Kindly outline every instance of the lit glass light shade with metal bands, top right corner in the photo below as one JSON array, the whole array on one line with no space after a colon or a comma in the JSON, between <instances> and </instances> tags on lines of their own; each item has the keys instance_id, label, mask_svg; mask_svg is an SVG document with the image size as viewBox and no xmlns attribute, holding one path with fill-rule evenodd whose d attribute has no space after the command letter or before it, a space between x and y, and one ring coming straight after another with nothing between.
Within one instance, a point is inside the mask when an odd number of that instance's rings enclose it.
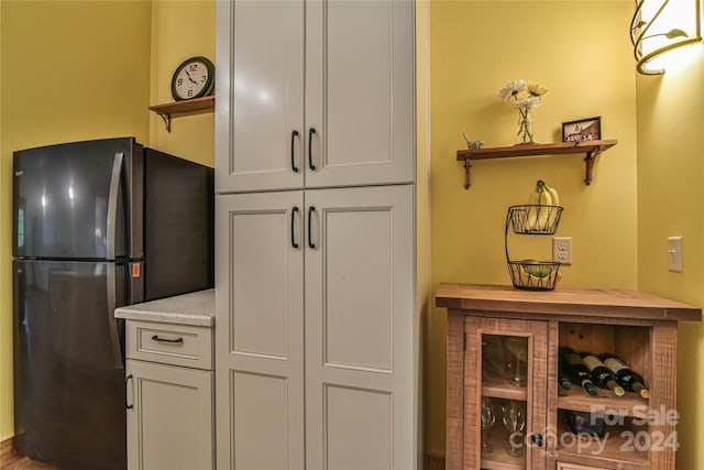
<instances>
[{"instance_id":1,"label":"lit glass light shade with metal bands, top right corner","mask_svg":"<svg viewBox=\"0 0 704 470\"><path fill-rule=\"evenodd\" d=\"M663 74L675 51L702 42L701 1L636 0L630 40L639 73Z\"/></svg>"}]
</instances>

